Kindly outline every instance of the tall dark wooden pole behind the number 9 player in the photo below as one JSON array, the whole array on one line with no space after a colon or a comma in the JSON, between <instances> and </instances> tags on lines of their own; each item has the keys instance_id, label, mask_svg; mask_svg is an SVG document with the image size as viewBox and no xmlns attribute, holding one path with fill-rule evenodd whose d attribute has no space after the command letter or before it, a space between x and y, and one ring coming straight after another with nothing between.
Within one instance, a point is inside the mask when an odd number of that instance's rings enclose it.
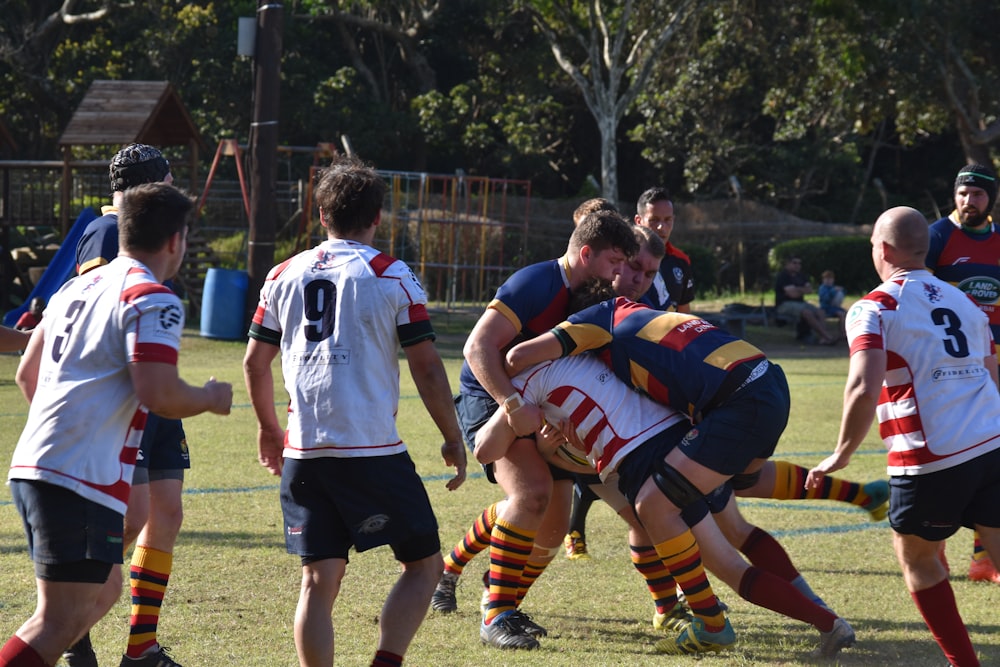
<instances>
[{"instance_id":1,"label":"tall dark wooden pole behind the number 9 player","mask_svg":"<svg viewBox=\"0 0 1000 667\"><path fill-rule=\"evenodd\" d=\"M250 236L247 243L246 313L249 321L267 272L274 264L277 228L278 93L281 85L280 2L258 0L254 56L254 107L250 127Z\"/></svg>"}]
</instances>

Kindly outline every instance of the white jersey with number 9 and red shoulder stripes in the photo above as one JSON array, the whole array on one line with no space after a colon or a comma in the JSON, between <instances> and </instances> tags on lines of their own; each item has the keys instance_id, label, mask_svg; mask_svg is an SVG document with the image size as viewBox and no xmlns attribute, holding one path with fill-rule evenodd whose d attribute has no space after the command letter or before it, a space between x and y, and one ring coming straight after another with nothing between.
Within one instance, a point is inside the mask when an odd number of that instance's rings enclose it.
<instances>
[{"instance_id":1,"label":"white jersey with number 9 and red shoulder stripes","mask_svg":"<svg viewBox=\"0 0 1000 667\"><path fill-rule=\"evenodd\" d=\"M279 345L289 395L284 456L386 456L396 431L399 349L433 340L427 297L403 262L328 240L271 269L250 336Z\"/></svg>"}]
</instances>

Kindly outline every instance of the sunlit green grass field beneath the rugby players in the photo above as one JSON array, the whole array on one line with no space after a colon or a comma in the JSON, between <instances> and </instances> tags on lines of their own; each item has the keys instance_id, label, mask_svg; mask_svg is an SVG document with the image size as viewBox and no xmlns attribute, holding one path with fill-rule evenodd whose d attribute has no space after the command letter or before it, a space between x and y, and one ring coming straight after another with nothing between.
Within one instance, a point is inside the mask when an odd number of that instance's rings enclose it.
<instances>
[{"instance_id":1,"label":"sunlit green grass field beneath the rugby players","mask_svg":"<svg viewBox=\"0 0 1000 667\"><path fill-rule=\"evenodd\" d=\"M462 335L469 318L439 314L439 347L457 386ZM792 414L778 457L810 466L833 446L840 419L847 352L793 344L787 329L750 327L748 338L780 363L792 390ZM190 331L184 339L181 372L193 383L209 375L232 381L232 415L186 420L193 467L185 484L185 522L174 573L164 603L161 641L191 666L296 665L292 617L298 595L298 560L284 551L278 480L256 461L256 427L242 383L242 343L211 341ZM27 406L13 382L16 356L0 356L0 459L8 460L24 424ZM444 488L449 472L439 458L439 439L402 369L400 431L426 480L441 525L445 549L461 538L472 519L500 497L470 465L459 490ZM843 476L868 481L884 475L881 443L870 434ZM854 626L858 643L840 665L940 667L945 659L930 637L903 585L892 554L891 531L866 514L830 502L741 501L747 518L778 537L811 583ZM653 652L652 604L629 561L624 524L603 505L588 519L593 559L570 562L559 556L532 588L525 609L550 636L532 652L502 652L480 644L480 556L458 589L459 611L431 613L406 664L555 667L571 665L687 665L694 658ZM1000 664L1000 587L965 577L971 533L948 544L952 585L983 665ZM387 549L352 556L334 610L337 664L369 664L377 618L398 566ZM721 583L738 635L736 648L703 658L714 665L816 664L809 652L817 633L741 600ZM20 520L7 487L0 488L0 642L34 609L34 580ZM127 635L128 603L118 605L94 629L102 665L118 663Z\"/></svg>"}]
</instances>

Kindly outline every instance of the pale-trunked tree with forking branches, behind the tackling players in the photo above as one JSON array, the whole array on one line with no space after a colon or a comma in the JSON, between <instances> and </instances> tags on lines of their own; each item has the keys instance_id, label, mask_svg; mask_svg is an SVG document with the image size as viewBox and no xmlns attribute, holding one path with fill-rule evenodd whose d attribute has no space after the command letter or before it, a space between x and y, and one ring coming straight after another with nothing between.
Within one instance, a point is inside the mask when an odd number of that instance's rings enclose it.
<instances>
[{"instance_id":1,"label":"pale-trunked tree with forking branches, behind the tackling players","mask_svg":"<svg viewBox=\"0 0 1000 667\"><path fill-rule=\"evenodd\" d=\"M527 0L535 25L556 62L583 94L601 136L601 189L618 201L618 128L643 90L663 47L701 2L681 0L670 12L660 3L640 21L633 1L605 11L602 0ZM657 26L644 27L644 26Z\"/></svg>"}]
</instances>

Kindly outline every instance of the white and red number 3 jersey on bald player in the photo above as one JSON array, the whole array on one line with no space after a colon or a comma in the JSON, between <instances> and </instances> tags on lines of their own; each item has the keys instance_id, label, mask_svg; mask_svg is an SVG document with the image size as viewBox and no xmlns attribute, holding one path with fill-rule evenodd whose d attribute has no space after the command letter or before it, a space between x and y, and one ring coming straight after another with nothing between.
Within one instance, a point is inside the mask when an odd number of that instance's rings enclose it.
<instances>
[{"instance_id":1,"label":"white and red number 3 jersey on bald player","mask_svg":"<svg viewBox=\"0 0 1000 667\"><path fill-rule=\"evenodd\" d=\"M983 366L986 315L928 271L882 283L847 316L851 354L886 352L876 415L890 475L956 466L1000 447L1000 393Z\"/></svg>"}]
</instances>

